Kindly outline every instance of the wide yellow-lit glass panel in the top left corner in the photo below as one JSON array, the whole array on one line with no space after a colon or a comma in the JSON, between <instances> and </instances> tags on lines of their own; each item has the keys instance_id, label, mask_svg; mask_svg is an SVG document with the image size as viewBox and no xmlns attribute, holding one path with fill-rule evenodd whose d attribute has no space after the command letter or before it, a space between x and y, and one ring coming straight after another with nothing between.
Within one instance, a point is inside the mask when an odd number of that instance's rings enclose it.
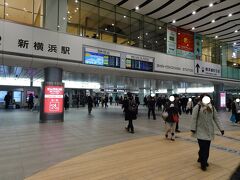
<instances>
[{"instance_id":1,"label":"wide yellow-lit glass panel in the top left corner","mask_svg":"<svg viewBox=\"0 0 240 180\"><path fill-rule=\"evenodd\" d=\"M33 0L5 0L5 19L22 24L33 24Z\"/></svg>"}]
</instances>

